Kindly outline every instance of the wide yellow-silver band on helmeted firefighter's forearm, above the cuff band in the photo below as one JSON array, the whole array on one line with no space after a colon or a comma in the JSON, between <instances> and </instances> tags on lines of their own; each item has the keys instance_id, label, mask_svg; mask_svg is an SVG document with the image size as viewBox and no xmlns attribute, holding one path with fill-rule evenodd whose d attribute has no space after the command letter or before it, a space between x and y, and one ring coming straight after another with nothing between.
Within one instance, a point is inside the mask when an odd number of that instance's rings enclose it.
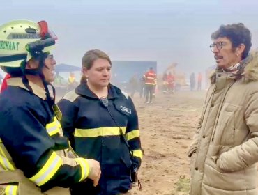
<instances>
[{"instance_id":1,"label":"wide yellow-silver band on helmeted firefighter's forearm, above the cuff band","mask_svg":"<svg viewBox=\"0 0 258 195\"><path fill-rule=\"evenodd\" d=\"M35 182L38 186L44 185L48 180L52 178L52 176L54 176L54 174L62 164L63 163L61 157L53 152L43 168L40 169L40 171L38 171L35 176L29 178L29 180Z\"/></svg>"}]
</instances>

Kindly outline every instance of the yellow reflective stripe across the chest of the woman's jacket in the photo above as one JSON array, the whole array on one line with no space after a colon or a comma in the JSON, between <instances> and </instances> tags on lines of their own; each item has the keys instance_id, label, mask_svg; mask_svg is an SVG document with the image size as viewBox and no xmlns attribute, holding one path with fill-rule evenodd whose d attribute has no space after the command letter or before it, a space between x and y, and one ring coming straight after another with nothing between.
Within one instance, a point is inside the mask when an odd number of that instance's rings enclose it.
<instances>
[{"instance_id":1,"label":"yellow reflective stripe across the chest of the woman's jacket","mask_svg":"<svg viewBox=\"0 0 258 195\"><path fill-rule=\"evenodd\" d=\"M123 134L126 133L126 127L121 127ZM99 137L120 135L119 127L99 127L93 129L75 129L75 137Z\"/></svg>"}]
</instances>

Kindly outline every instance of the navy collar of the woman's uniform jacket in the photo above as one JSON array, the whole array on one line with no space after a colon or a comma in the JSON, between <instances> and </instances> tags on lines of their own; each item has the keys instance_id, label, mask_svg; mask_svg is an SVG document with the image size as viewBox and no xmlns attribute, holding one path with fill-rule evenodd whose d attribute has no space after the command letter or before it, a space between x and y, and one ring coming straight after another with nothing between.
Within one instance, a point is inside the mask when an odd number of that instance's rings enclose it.
<instances>
[{"instance_id":1,"label":"navy collar of the woman's uniform jacket","mask_svg":"<svg viewBox=\"0 0 258 195\"><path fill-rule=\"evenodd\" d=\"M121 90L119 88L117 88L116 86L113 86L112 84L109 84L107 88L108 88L107 98L112 99L112 98L119 97L119 94L121 93ZM99 99L98 96L95 93L93 93L93 91L91 91L85 83L79 84L79 86L75 88L75 93L77 93L78 95L86 96L88 98Z\"/></svg>"}]
</instances>

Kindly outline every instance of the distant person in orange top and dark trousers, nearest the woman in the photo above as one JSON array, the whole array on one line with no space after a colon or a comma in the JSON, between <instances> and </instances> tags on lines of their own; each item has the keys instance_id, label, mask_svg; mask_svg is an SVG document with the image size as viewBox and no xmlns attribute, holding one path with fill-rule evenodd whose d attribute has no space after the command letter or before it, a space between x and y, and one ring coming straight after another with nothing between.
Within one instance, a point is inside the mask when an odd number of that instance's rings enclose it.
<instances>
[{"instance_id":1,"label":"distant person in orange top and dark trousers, nearest the woman","mask_svg":"<svg viewBox=\"0 0 258 195\"><path fill-rule=\"evenodd\" d=\"M156 73L151 67L148 72L144 74L145 77L145 89L146 89L146 99L145 103L152 103L153 98L153 88L155 87ZM149 98L150 97L150 98Z\"/></svg>"}]
</instances>

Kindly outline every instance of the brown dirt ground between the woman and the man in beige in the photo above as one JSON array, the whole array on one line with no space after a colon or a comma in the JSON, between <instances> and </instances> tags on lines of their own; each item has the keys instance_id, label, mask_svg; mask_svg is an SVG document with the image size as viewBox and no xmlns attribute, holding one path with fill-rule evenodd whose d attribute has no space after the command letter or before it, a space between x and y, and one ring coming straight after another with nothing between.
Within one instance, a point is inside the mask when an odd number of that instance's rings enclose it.
<instances>
[{"instance_id":1,"label":"brown dirt ground between the woman and the man in beige","mask_svg":"<svg viewBox=\"0 0 258 195\"><path fill-rule=\"evenodd\" d=\"M142 189L135 186L132 194L189 194L187 151L205 93L157 94L153 104L144 104L144 99L135 95L144 159L139 170Z\"/></svg>"}]
</instances>

